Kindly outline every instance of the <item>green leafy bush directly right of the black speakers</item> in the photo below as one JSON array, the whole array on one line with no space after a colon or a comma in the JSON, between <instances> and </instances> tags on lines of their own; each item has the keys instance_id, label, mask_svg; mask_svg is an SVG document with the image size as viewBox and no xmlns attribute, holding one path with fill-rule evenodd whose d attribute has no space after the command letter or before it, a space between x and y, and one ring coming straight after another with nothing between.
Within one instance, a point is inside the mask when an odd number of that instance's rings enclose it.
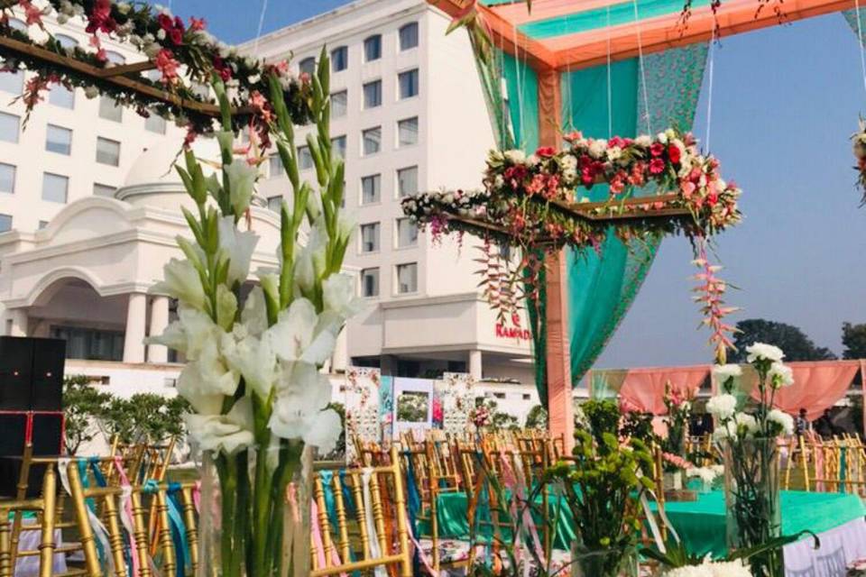
<instances>
[{"instance_id":1,"label":"green leafy bush directly right of the black speakers","mask_svg":"<svg viewBox=\"0 0 866 577\"><path fill-rule=\"evenodd\" d=\"M78 453L82 444L96 437L98 422L110 402L111 395L90 385L84 375L70 375L63 379L64 442L69 454Z\"/></svg>"}]
</instances>

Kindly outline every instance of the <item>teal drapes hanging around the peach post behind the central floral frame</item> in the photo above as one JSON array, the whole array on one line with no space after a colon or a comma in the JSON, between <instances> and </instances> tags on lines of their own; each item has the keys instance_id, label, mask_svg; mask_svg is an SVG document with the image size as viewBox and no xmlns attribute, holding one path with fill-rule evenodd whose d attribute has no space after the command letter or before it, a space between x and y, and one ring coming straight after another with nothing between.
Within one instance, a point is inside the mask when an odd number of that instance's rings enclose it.
<instances>
[{"instance_id":1,"label":"teal drapes hanging around the peach post behind the central floral frame","mask_svg":"<svg viewBox=\"0 0 866 577\"><path fill-rule=\"evenodd\" d=\"M538 78L524 62L508 54L500 53L498 61L508 90L514 141L523 150L534 151L539 142ZM561 75L563 130L580 130L594 138L607 138L612 133L634 136L647 132L648 116L653 133L671 125L687 130L694 119L705 61L706 45L696 44L645 57L642 74L638 59L613 62L610 69L603 65L567 71ZM632 194L652 192L641 189ZM607 194L603 186L578 191L578 197L593 200ZM626 245L609 234L597 250L568 252L568 336L575 382L592 366L628 311L658 247L658 239ZM543 291L539 301L528 302L527 308L535 345L536 385L546 405Z\"/></svg>"}]
</instances>

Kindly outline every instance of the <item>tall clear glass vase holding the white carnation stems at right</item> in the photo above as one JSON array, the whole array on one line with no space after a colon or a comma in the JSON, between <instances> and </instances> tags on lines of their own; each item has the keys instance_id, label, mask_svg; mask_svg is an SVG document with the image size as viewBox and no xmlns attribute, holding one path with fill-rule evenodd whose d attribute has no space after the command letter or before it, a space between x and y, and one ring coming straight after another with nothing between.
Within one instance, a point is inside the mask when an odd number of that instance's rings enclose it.
<instances>
[{"instance_id":1,"label":"tall clear glass vase holding the white carnation stems at right","mask_svg":"<svg viewBox=\"0 0 866 577\"><path fill-rule=\"evenodd\" d=\"M781 535L778 445L776 438L737 438L724 450L724 500L728 550L763 545ZM754 577L783 577L777 548L753 555Z\"/></svg>"}]
</instances>

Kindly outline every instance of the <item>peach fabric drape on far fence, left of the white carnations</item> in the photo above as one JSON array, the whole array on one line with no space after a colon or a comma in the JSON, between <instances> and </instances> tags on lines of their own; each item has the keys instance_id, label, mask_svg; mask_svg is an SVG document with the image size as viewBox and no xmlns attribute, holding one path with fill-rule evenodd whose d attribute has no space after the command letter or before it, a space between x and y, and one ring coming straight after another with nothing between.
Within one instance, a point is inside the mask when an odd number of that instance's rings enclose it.
<instances>
[{"instance_id":1,"label":"peach fabric drape on far fence, left of the white carnations","mask_svg":"<svg viewBox=\"0 0 866 577\"><path fill-rule=\"evenodd\" d=\"M708 365L695 367L661 367L631 369L620 388L620 402L633 410L653 415L665 415L665 386L684 397L694 397L701 383L710 374Z\"/></svg>"}]
</instances>

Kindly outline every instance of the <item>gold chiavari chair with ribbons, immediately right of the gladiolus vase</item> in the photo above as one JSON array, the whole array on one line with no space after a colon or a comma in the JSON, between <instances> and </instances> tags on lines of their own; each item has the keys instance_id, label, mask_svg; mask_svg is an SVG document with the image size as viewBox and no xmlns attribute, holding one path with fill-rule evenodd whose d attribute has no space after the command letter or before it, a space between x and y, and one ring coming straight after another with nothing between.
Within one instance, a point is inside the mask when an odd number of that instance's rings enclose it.
<instances>
[{"instance_id":1,"label":"gold chiavari chair with ribbons, immediately right of the gladiolus vase","mask_svg":"<svg viewBox=\"0 0 866 577\"><path fill-rule=\"evenodd\" d=\"M405 488L395 445L388 452L387 461L386 465L345 469L342 474L332 476L336 527L327 515L327 488L321 477L316 477L313 497L318 517L314 522L318 522L321 544L316 543L314 531L311 577L363 572L374 567L394 567L400 577L412 574ZM343 498L342 482L351 491L355 518ZM388 512L392 518L385 518ZM353 547L353 543L360 543L360 549ZM379 555L374 554L376 549Z\"/></svg>"}]
</instances>

